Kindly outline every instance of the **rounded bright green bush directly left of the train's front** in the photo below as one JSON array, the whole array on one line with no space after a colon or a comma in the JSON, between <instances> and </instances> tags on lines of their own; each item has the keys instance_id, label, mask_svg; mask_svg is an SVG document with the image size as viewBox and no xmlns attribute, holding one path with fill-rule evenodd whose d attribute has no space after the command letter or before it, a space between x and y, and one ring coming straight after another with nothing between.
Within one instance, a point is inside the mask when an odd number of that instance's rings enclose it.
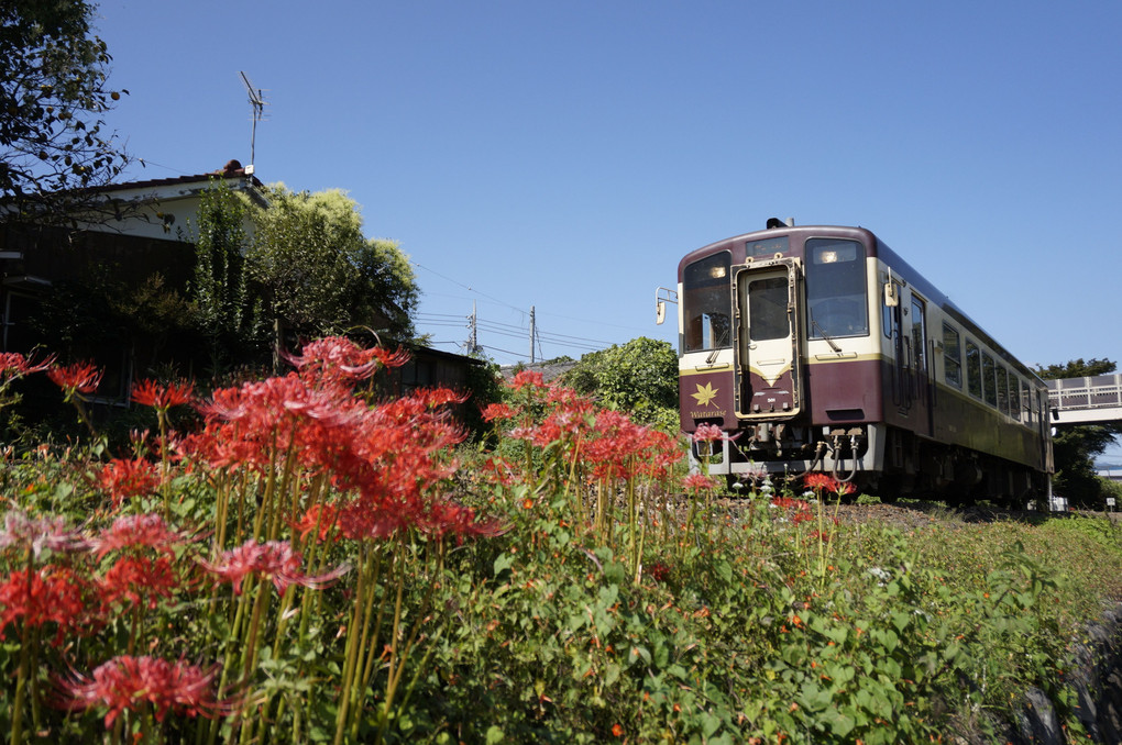
<instances>
[{"instance_id":1,"label":"rounded bright green bush directly left of the train's front","mask_svg":"<svg viewBox=\"0 0 1122 745\"><path fill-rule=\"evenodd\" d=\"M590 352L562 381L635 421L678 428L678 355L668 342L641 336Z\"/></svg>"}]
</instances>

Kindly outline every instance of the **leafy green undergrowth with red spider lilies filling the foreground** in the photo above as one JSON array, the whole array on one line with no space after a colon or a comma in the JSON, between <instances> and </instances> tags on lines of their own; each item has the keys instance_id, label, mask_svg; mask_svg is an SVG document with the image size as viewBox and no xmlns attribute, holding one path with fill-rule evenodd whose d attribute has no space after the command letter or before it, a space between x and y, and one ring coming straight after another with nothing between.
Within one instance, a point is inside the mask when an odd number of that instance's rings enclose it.
<instances>
[{"instance_id":1,"label":"leafy green undergrowth with red spider lilies filling the foreground","mask_svg":"<svg viewBox=\"0 0 1122 745\"><path fill-rule=\"evenodd\" d=\"M283 407L250 394L282 383ZM110 742L1004 742L1029 686L1070 738L1083 734L1067 644L1122 590L1122 543L1106 520L942 514L903 532L838 523L820 501L763 490L690 501L666 450L620 457L651 430L532 374L512 384L524 406L496 421L512 450L537 457L496 464L502 448L482 446L453 459L438 439L414 472L424 435L448 434L427 419L431 400L334 408L338 383L228 392L237 421L196 432L182 462L154 458L159 478L128 497L99 486L102 446L6 456L9 509L49 519L34 530L4 522L0 586L19 589L13 572L33 559L73 571L91 583L99 623L52 617L28 633L4 616L0 729L15 742L88 741L103 730L103 705L40 704L65 692L67 676L88 679L135 651L213 663L211 687L192 692L220 691L229 710L154 718L130 699ZM425 413L403 425L410 411ZM259 421L276 429L252 429ZM166 455L181 438L159 440ZM376 460L355 463L370 449ZM325 459L309 465L313 454ZM356 502L368 494L339 476L364 474L416 501ZM417 481L429 488L413 491ZM435 509L411 515L429 497ZM72 532L104 537L120 516L153 514L174 529L173 549L64 552ZM478 534L433 530L447 514L467 522L445 528ZM237 589L215 577L218 557L232 571L230 549L266 539L291 547L291 560L240 565ZM157 556L176 580L166 595L105 599L118 564ZM149 593L146 577L128 589ZM52 644L59 630L71 636Z\"/></svg>"}]
</instances>

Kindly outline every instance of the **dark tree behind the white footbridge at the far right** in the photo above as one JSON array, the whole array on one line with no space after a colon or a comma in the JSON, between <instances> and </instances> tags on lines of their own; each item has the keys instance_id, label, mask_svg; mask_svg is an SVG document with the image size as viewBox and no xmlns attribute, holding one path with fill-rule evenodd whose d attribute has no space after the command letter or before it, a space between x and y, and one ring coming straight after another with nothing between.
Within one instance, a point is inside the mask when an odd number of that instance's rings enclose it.
<instances>
[{"instance_id":1,"label":"dark tree behind the white footbridge at the far right","mask_svg":"<svg viewBox=\"0 0 1122 745\"><path fill-rule=\"evenodd\" d=\"M1116 365L1110 360L1073 360L1064 365L1038 366L1045 380L1105 375ZM1098 505L1102 502L1102 482L1095 474L1095 458L1106 451L1114 437L1122 435L1122 425L1068 425L1057 427L1052 438L1056 475L1052 487L1073 504Z\"/></svg>"}]
</instances>

